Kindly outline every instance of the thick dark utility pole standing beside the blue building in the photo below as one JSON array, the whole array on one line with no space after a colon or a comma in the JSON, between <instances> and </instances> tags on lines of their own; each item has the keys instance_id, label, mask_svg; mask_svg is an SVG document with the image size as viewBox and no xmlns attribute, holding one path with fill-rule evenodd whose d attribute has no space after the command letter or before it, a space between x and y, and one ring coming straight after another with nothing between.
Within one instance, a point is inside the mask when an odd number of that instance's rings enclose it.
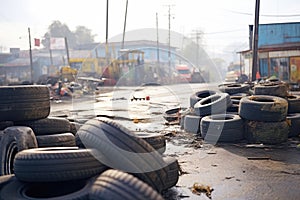
<instances>
[{"instance_id":1,"label":"thick dark utility pole standing beside the blue building","mask_svg":"<svg viewBox=\"0 0 300 200\"><path fill-rule=\"evenodd\" d=\"M256 80L256 73L258 69L258 25L259 25L259 5L260 0L255 3L255 24L254 24L254 43L253 43L253 60L252 60L252 81Z\"/></svg>"}]
</instances>

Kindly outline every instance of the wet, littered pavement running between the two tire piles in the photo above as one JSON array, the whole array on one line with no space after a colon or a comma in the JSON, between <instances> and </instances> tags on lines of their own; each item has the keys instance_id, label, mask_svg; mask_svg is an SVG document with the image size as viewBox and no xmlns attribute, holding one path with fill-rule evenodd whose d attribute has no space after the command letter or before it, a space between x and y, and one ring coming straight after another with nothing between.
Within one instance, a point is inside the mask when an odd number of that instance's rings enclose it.
<instances>
[{"instance_id":1,"label":"wet, littered pavement running between the two tire piles","mask_svg":"<svg viewBox=\"0 0 300 200\"><path fill-rule=\"evenodd\" d=\"M189 107L190 95L203 88L217 87L181 84L100 88L99 95L52 102L50 115L67 116L79 123L107 116L134 132L164 134L164 155L175 157L181 166L179 181L164 194L166 199L209 199L204 192L192 192L195 183L210 186L211 199L299 199L299 137L272 146L245 141L211 145L184 132L178 124L166 124L166 109ZM150 100L142 99L147 96Z\"/></svg>"}]
</instances>

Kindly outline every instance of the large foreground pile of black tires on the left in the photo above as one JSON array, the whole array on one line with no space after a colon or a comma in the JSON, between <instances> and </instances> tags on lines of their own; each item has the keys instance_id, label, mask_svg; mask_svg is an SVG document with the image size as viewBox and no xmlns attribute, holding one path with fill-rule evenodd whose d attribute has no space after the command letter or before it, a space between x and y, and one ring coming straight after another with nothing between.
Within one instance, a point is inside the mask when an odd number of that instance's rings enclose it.
<instances>
[{"instance_id":1,"label":"large foreground pile of black tires on the left","mask_svg":"<svg viewBox=\"0 0 300 200\"><path fill-rule=\"evenodd\" d=\"M50 117L39 85L0 87L0 199L163 199L179 177L161 135Z\"/></svg>"}]
</instances>

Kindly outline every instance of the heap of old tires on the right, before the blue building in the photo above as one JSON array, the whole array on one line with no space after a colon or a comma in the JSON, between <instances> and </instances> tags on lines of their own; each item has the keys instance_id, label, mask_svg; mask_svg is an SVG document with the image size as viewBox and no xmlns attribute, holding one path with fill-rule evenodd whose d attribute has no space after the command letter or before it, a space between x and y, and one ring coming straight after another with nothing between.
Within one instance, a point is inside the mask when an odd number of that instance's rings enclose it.
<instances>
[{"instance_id":1,"label":"heap of old tires on the right, before the blue building","mask_svg":"<svg viewBox=\"0 0 300 200\"><path fill-rule=\"evenodd\" d=\"M300 96L290 94L288 88L273 80L197 91L190 96L189 112L180 115L181 127L211 143L284 143L300 134Z\"/></svg>"}]
</instances>

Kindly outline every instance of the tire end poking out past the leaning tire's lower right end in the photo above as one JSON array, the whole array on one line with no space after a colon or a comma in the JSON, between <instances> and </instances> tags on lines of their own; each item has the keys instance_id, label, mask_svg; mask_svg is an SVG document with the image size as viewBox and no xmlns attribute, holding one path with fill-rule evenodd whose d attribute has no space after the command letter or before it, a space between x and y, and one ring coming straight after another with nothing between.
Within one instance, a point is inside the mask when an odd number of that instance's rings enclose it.
<instances>
[{"instance_id":1,"label":"tire end poking out past the leaning tire's lower right end","mask_svg":"<svg viewBox=\"0 0 300 200\"><path fill-rule=\"evenodd\" d=\"M170 189L171 187L176 186L179 180L180 167L178 160L173 157L165 157L164 161L167 163L167 180L164 184L164 190Z\"/></svg>"}]
</instances>

